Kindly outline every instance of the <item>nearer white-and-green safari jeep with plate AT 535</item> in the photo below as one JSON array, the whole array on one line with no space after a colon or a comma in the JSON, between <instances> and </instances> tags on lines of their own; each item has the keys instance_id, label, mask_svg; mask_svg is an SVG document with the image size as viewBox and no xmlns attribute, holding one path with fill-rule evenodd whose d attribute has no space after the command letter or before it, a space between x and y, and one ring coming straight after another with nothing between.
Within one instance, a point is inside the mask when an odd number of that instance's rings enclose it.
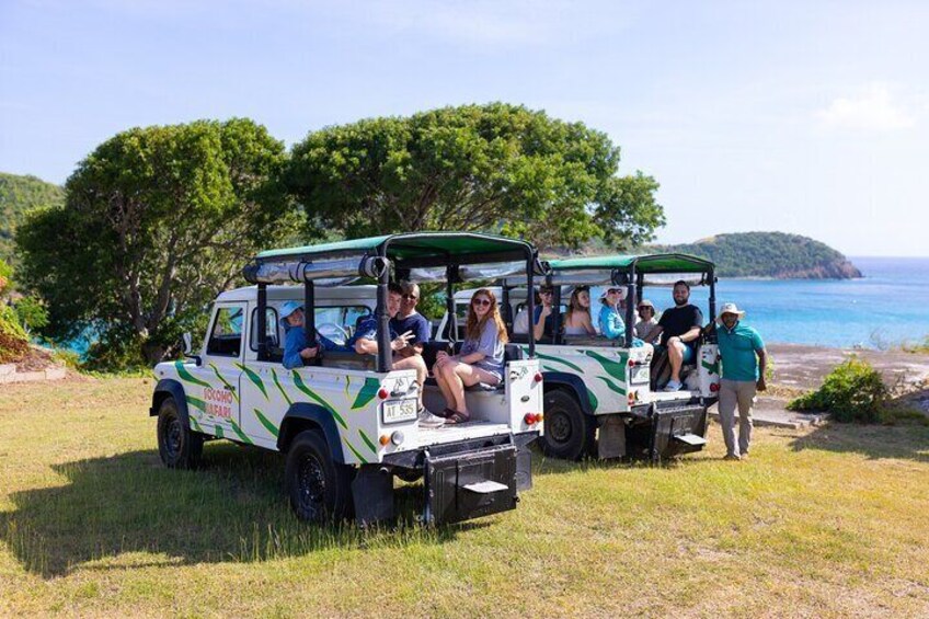
<instances>
[{"instance_id":1,"label":"nearer white-and-green safari jeep with plate AT 535","mask_svg":"<svg viewBox=\"0 0 929 619\"><path fill-rule=\"evenodd\" d=\"M542 428L534 342L508 346L502 385L468 392L472 417L457 425L421 426L415 370L391 367L391 280L445 280L451 299L456 284L486 273L523 274L531 289L546 265L524 241L455 232L259 254L243 270L254 285L214 302L198 354L154 368L150 414L158 416L161 459L195 467L204 442L216 438L282 451L291 506L313 521L353 512L359 523L392 519L394 475L423 478L427 523L515 508L517 492L531 488L528 445ZM294 300L307 308L307 333L336 341L374 313L378 354L325 352L314 365L285 369L278 309ZM448 345L428 342L424 357ZM428 382L425 389L427 400L438 391Z\"/></svg>"}]
</instances>

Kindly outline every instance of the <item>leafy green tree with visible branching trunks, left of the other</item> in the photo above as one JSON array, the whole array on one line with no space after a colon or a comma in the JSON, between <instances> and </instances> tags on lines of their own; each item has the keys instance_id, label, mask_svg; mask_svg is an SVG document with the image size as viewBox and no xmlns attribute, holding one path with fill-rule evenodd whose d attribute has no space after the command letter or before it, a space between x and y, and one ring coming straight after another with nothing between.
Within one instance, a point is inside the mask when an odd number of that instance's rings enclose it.
<instances>
[{"instance_id":1,"label":"leafy green tree with visible branching trunks, left of the other","mask_svg":"<svg viewBox=\"0 0 929 619\"><path fill-rule=\"evenodd\" d=\"M90 328L110 365L175 352L243 262L295 225L285 162L284 145L249 119L135 128L100 145L68 179L66 204L16 234L21 279L48 302L47 334Z\"/></svg>"}]
</instances>

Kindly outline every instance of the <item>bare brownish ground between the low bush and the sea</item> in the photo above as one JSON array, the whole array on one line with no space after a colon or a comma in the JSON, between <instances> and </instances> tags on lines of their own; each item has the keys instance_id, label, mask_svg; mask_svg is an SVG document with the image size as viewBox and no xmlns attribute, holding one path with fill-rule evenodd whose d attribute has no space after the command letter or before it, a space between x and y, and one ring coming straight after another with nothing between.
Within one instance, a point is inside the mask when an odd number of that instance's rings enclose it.
<instances>
[{"instance_id":1,"label":"bare brownish ground between the low bush and the sea","mask_svg":"<svg viewBox=\"0 0 929 619\"><path fill-rule=\"evenodd\" d=\"M823 378L849 355L859 355L884 375L884 381L907 392L913 405L929 413L929 355L914 355L903 351L855 351L825 348L800 344L770 344L768 353L775 363L772 383L777 396L759 394L754 419L757 425L796 427L818 423L822 415L794 413L784 409L790 390L816 389ZM778 387L785 389L778 389ZM715 406L710 409L715 416Z\"/></svg>"}]
</instances>

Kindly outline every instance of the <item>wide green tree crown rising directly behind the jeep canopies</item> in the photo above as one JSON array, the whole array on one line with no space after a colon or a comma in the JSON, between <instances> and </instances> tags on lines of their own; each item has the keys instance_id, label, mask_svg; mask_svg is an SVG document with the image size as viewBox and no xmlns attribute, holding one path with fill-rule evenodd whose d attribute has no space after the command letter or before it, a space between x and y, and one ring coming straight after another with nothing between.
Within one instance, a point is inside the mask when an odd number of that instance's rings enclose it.
<instances>
[{"instance_id":1,"label":"wide green tree crown rising directly behind the jeep canopies","mask_svg":"<svg viewBox=\"0 0 929 619\"><path fill-rule=\"evenodd\" d=\"M309 232L493 230L543 248L647 242L664 223L650 176L617 176L619 148L582 123L492 103L310 133L288 185Z\"/></svg>"}]
</instances>

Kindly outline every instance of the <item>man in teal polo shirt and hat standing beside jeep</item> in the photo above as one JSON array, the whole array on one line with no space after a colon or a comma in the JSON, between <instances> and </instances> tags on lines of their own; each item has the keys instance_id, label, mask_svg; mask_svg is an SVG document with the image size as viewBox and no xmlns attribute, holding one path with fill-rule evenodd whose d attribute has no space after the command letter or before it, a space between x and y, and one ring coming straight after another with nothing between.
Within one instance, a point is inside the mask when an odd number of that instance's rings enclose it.
<instances>
[{"instance_id":1,"label":"man in teal polo shirt and hat standing beside jeep","mask_svg":"<svg viewBox=\"0 0 929 619\"><path fill-rule=\"evenodd\" d=\"M768 354L758 332L742 324L745 312L735 303L725 303L720 311L716 339L723 362L720 381L720 423L726 444L726 460L748 456L752 439L752 404L756 391L767 389L765 367ZM738 406L738 445L735 443L735 409Z\"/></svg>"}]
</instances>

